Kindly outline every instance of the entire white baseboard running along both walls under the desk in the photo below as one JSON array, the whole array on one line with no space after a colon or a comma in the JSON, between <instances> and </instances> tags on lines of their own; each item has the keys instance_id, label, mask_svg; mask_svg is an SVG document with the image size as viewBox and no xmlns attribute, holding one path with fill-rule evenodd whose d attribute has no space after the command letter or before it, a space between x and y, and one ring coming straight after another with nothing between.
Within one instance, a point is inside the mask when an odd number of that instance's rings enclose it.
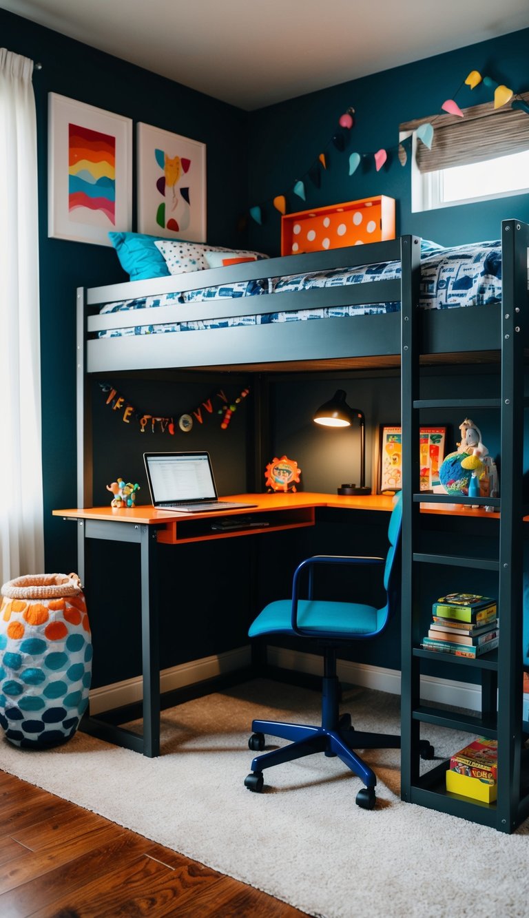
<instances>
[{"instance_id":1,"label":"entire white baseboard running along both walls under the desk","mask_svg":"<svg viewBox=\"0 0 529 918\"><path fill-rule=\"evenodd\" d=\"M298 650L286 650L283 647L273 646L268 646L266 652L270 666L292 669L295 672L308 673L312 676L322 674L322 658L316 654L306 654ZM251 649L249 645L246 645L227 651L225 654L204 656L200 660L192 660L180 666L171 666L160 674L160 690L165 692L182 689L184 686L194 685L204 679L243 669L250 666L251 661ZM338 676L343 682L351 685L400 695L400 670L398 669L338 660ZM96 716L103 711L112 711L123 705L141 701L141 689L141 677L125 679L109 686L92 689L90 713ZM481 710L481 689L478 685L467 682L422 676L421 698L423 701L438 701L471 711Z\"/></svg>"}]
</instances>

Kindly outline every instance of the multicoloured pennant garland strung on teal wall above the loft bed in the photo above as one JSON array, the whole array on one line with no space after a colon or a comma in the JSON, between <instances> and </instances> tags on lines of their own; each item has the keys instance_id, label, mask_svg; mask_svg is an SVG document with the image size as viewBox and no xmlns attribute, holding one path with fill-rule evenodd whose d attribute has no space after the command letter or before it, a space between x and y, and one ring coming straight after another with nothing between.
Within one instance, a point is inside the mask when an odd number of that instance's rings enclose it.
<instances>
[{"instance_id":1,"label":"multicoloured pennant garland strung on teal wall above the loft bed","mask_svg":"<svg viewBox=\"0 0 529 918\"><path fill-rule=\"evenodd\" d=\"M486 86L488 89L490 89L493 92L494 108L500 108L501 106L505 106L509 102L511 102L512 108L517 108L520 111L524 111L529 115L529 104L525 102L523 98L513 93L512 89L509 89L508 86L505 86L504 84L496 83L496 81L493 80L490 76L481 76L481 73L479 73L477 70L472 70L470 71L470 73L468 73L467 78L464 80L462 84L460 84L454 96L458 95L459 91L462 89L464 85L469 86L470 89L472 90L472 89L475 89L476 86L478 86L480 83L482 83L484 86ZM461 111L461 108L457 105L455 101L455 97L446 99L443 105L441 106L441 109L443 112L447 112L449 115L456 115L458 118L465 117L464 113ZM348 108L347 111L345 111L343 115L340 116L340 118L338 119L338 124L340 128L342 128L345 131L345 133L343 132L333 133L331 140L329 140L325 150L321 151L318 154L315 162L312 163L308 172L305 173L302 178L298 178L295 181L294 185L292 186L292 192L294 193L294 195L300 197L301 200L305 201L307 199L306 198L306 186L305 186L305 182L303 181L303 178L305 177L305 175L307 175L310 178L310 181L312 182L313 185L315 185L315 187L317 188L321 187L321 169L327 170L329 169L329 166L330 166L330 161L327 158L326 150L330 147L331 143L337 151L343 152L345 150L347 143L348 143L347 133L355 125L355 118L353 117L354 115L355 115L355 109ZM421 140L421 142L426 147L428 147L428 150L432 149L433 125L436 123L438 118L443 118L443 116L439 115L436 118L433 118L432 121L427 121L427 122L422 123L422 125L420 125L419 128L417 128L415 131L415 134L418 140ZM388 148L388 149L381 148L380 150L377 150L376 152L354 151L350 153L349 155L349 161L348 161L349 162L349 175L351 176L355 174L356 170L358 169L358 166L360 165L362 161L366 161L368 165L374 164L377 172L379 172L380 169L384 166L386 162L389 162L389 163L391 162L391 155L393 153L397 155L400 165L405 166L406 163L408 162L407 148L410 145L411 145L411 137L406 138L405 140L401 140L400 143L397 146L395 146L395 148ZM267 202L264 202L264 203L267 203ZM262 225L263 223L264 203L263 205L256 205L254 207L250 207L248 211L248 213L253 218L253 220L259 225ZM279 211L279 213L281 214L287 213L287 197L284 194L274 196L273 204L274 204L274 207L276 207L276 210Z\"/></svg>"}]
</instances>

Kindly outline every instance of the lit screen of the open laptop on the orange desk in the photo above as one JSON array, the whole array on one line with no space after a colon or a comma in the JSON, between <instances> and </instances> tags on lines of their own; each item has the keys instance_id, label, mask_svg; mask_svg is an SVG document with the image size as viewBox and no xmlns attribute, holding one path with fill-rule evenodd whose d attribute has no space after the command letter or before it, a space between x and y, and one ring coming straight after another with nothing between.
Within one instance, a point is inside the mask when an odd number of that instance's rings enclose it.
<instances>
[{"instance_id":1,"label":"lit screen of the open laptop on the orange desk","mask_svg":"<svg viewBox=\"0 0 529 918\"><path fill-rule=\"evenodd\" d=\"M152 504L217 498L208 453L145 453Z\"/></svg>"}]
</instances>

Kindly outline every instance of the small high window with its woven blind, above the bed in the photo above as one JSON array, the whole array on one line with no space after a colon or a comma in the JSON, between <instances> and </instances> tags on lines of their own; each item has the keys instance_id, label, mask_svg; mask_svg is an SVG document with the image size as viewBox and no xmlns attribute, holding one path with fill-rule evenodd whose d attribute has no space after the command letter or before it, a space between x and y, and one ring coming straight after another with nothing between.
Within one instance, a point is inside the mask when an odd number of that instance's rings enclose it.
<instances>
[{"instance_id":1,"label":"small high window with its woven blind, above the bed","mask_svg":"<svg viewBox=\"0 0 529 918\"><path fill-rule=\"evenodd\" d=\"M525 101L529 94L519 96ZM529 190L529 116L491 103L454 115L420 118L400 125L411 140L411 210L454 207ZM415 130L433 123L432 149Z\"/></svg>"}]
</instances>

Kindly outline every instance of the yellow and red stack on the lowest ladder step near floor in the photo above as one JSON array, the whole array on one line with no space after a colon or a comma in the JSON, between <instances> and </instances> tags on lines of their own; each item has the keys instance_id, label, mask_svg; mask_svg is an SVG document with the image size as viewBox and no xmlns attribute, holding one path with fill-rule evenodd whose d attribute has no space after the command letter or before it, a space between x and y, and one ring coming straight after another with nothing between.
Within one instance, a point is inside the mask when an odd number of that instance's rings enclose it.
<instances>
[{"instance_id":1,"label":"yellow and red stack on the lowest ladder step near floor","mask_svg":"<svg viewBox=\"0 0 529 918\"><path fill-rule=\"evenodd\" d=\"M498 740L480 736L450 758L446 790L492 803L498 793Z\"/></svg>"}]
</instances>

